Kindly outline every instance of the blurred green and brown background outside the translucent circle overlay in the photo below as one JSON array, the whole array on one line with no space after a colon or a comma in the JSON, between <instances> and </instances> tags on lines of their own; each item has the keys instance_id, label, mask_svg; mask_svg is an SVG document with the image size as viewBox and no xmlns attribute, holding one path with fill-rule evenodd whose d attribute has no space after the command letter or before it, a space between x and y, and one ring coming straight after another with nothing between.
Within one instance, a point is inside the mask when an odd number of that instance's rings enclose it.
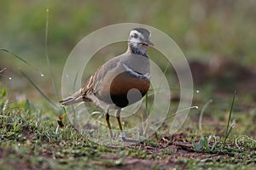
<instances>
[{"instance_id":1,"label":"blurred green and brown background outside the translucent circle overlay","mask_svg":"<svg viewBox=\"0 0 256 170\"><path fill-rule=\"evenodd\" d=\"M255 0L2 0L0 48L26 59L45 75L38 76L19 59L1 51L0 69L7 69L0 81L15 90L13 95L32 88L20 75L19 68L46 94L55 95L45 59L47 8L49 60L60 90L62 69L75 45L92 31L123 22L153 26L172 37L191 64L195 88L209 85L211 89L226 86L224 90L234 90L237 87L233 85L243 81L241 87L251 84L253 89L256 84L249 82L255 78ZM114 50L106 53L120 54L125 46ZM28 92L28 97L39 96L36 90Z\"/></svg>"}]
</instances>

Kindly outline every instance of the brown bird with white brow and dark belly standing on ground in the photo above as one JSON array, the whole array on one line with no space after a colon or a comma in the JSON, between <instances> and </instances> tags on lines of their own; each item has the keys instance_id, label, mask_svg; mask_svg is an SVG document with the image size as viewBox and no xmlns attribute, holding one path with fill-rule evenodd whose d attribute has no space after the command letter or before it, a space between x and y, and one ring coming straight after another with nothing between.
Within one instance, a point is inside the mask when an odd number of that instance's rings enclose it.
<instances>
[{"instance_id":1,"label":"brown bird with white brow and dark belly standing on ground","mask_svg":"<svg viewBox=\"0 0 256 170\"><path fill-rule=\"evenodd\" d=\"M143 99L150 87L150 60L148 46L154 46L151 33L146 28L137 27L130 31L128 47L124 54L108 60L76 93L60 101L62 106L80 102L94 102L105 111L110 137L113 138L109 122L109 110L116 110L121 139L125 138L120 121L123 108Z\"/></svg>"}]
</instances>

